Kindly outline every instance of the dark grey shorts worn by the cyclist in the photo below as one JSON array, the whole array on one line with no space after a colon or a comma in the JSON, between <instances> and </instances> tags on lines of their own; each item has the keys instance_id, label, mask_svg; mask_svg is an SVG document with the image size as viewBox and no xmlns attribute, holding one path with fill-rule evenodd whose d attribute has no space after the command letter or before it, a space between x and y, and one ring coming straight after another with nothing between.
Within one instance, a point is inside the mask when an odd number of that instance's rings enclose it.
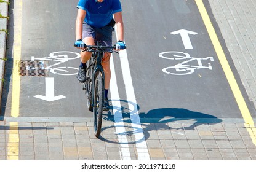
<instances>
[{"instance_id":1,"label":"dark grey shorts worn by the cyclist","mask_svg":"<svg viewBox=\"0 0 256 172\"><path fill-rule=\"evenodd\" d=\"M112 26L104 26L103 28L94 28L86 22L82 25L82 39L93 37L94 41L99 41L105 46L112 46L114 28Z\"/></svg>"}]
</instances>

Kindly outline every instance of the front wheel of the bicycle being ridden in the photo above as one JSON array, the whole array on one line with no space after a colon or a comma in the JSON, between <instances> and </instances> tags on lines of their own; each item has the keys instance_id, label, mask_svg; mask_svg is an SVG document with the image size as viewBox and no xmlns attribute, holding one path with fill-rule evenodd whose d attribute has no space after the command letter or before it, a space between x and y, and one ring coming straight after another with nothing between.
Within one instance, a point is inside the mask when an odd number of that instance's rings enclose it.
<instances>
[{"instance_id":1,"label":"front wheel of the bicycle being ridden","mask_svg":"<svg viewBox=\"0 0 256 172\"><path fill-rule=\"evenodd\" d=\"M103 112L103 78L102 73L95 75L94 86L94 135L98 138L102 130L102 112Z\"/></svg>"}]
</instances>

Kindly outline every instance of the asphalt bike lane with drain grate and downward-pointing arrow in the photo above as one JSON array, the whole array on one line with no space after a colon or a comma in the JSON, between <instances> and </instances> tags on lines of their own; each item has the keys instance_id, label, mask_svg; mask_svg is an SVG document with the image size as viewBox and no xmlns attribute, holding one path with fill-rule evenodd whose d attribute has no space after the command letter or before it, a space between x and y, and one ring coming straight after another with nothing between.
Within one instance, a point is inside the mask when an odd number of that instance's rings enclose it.
<instances>
[{"instance_id":1,"label":"asphalt bike lane with drain grate and downward-pointing arrow","mask_svg":"<svg viewBox=\"0 0 256 172\"><path fill-rule=\"evenodd\" d=\"M19 109L15 113L18 117L90 114L82 85L76 79L80 58L79 50L73 47L76 3L67 1L59 6L58 1L23 1L21 58L16 66L20 99L19 108L12 108ZM71 5L74 10L70 10Z\"/></svg>"}]
</instances>

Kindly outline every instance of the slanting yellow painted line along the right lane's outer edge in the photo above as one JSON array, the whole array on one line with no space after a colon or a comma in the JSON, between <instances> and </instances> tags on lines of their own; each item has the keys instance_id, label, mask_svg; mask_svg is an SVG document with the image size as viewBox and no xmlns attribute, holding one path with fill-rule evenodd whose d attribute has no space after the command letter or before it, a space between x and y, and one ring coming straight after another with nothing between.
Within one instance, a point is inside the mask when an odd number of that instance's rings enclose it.
<instances>
[{"instance_id":1,"label":"slanting yellow painted line along the right lane's outer edge","mask_svg":"<svg viewBox=\"0 0 256 172\"><path fill-rule=\"evenodd\" d=\"M204 21L204 25L206 26L206 29L209 33L210 39L212 40L212 44L214 45L215 52L217 53L218 60L220 60L220 64L222 65L223 71L226 75L226 79L228 79L228 83L230 84L231 90L234 94L234 98L238 103L238 107L241 111L244 122L249 123L250 127L247 127L247 131L249 132L250 138L252 138L253 143L256 145L254 120L250 115L246 101L244 101L244 97L242 96L241 90L238 87L238 83L236 82L234 74L231 71L228 60L226 60L226 55L223 52L222 45L220 45L220 41L218 40L218 36L214 30L214 26L212 26L212 22L210 21L210 17L207 14L206 7L204 6L202 0L196 0L196 4L202 16L202 20Z\"/></svg>"}]
</instances>

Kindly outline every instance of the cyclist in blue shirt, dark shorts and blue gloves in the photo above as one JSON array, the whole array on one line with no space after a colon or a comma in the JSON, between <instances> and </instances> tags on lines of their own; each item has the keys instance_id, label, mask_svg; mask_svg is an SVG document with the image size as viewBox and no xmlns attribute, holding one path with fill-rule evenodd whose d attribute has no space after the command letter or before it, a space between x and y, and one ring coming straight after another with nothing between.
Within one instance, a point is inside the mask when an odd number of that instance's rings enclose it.
<instances>
[{"instance_id":1,"label":"cyclist in blue shirt, dark shorts and blue gloves","mask_svg":"<svg viewBox=\"0 0 256 172\"><path fill-rule=\"evenodd\" d=\"M122 21L122 7L120 0L79 0L76 18L76 46L83 49L84 44L94 45L100 41L105 46L112 45L114 25L117 25L116 50L123 50L124 23ZM113 18L114 15L114 18ZM86 81L86 61L90 59L91 52L81 50L81 64L78 71L79 82ZM105 99L103 110L108 111L108 88L110 87L110 53L106 52L102 59L105 74Z\"/></svg>"}]
</instances>

